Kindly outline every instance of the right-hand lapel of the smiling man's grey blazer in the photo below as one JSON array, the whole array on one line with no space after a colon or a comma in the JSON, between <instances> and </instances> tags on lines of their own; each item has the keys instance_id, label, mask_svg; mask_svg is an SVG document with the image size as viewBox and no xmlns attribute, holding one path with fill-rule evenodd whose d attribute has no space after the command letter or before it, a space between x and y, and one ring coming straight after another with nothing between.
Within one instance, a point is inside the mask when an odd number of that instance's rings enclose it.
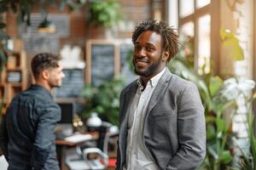
<instances>
[{"instance_id":1,"label":"right-hand lapel of the smiling man's grey blazer","mask_svg":"<svg viewBox=\"0 0 256 170\"><path fill-rule=\"evenodd\" d=\"M168 69L166 69L163 76L160 77L160 80L154 89L151 99L149 100L147 115L154 108L154 105L156 105L156 103L160 99L160 96L165 94L166 88L168 87L168 84L171 78L172 78L172 73Z\"/></svg>"}]
</instances>

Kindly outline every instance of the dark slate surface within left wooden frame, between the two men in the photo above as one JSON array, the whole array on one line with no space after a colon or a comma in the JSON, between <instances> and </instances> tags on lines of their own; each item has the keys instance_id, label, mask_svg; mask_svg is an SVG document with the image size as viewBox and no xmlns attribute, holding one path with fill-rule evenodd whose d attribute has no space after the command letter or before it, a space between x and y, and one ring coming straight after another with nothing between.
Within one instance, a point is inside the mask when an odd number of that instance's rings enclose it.
<instances>
[{"instance_id":1,"label":"dark slate surface within left wooden frame, between the two men","mask_svg":"<svg viewBox=\"0 0 256 170\"><path fill-rule=\"evenodd\" d=\"M91 45L91 83L100 86L113 78L114 45Z\"/></svg>"}]
</instances>

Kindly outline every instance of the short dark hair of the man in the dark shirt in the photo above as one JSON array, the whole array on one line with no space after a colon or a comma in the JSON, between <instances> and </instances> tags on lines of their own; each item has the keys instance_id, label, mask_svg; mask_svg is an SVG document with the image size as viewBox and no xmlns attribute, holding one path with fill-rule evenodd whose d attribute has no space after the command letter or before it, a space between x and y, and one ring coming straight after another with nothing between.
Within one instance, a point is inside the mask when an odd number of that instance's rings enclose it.
<instances>
[{"instance_id":1,"label":"short dark hair of the man in the dark shirt","mask_svg":"<svg viewBox=\"0 0 256 170\"><path fill-rule=\"evenodd\" d=\"M55 54L41 53L33 57L31 62L32 73L35 79L38 78L40 72L49 69L59 67L58 62L60 57Z\"/></svg>"}]
</instances>

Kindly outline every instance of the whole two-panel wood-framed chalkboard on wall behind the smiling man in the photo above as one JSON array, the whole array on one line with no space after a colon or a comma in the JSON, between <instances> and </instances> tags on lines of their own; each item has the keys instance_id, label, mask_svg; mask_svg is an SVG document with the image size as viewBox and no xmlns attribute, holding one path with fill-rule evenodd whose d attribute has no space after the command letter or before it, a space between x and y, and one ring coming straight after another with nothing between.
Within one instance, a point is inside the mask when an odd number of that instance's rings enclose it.
<instances>
[{"instance_id":1,"label":"whole two-panel wood-framed chalkboard on wall behind the smiling man","mask_svg":"<svg viewBox=\"0 0 256 170\"><path fill-rule=\"evenodd\" d=\"M86 42L86 83L100 86L115 76L125 77L125 84L137 78L131 69L131 40L89 40Z\"/></svg>"}]
</instances>

